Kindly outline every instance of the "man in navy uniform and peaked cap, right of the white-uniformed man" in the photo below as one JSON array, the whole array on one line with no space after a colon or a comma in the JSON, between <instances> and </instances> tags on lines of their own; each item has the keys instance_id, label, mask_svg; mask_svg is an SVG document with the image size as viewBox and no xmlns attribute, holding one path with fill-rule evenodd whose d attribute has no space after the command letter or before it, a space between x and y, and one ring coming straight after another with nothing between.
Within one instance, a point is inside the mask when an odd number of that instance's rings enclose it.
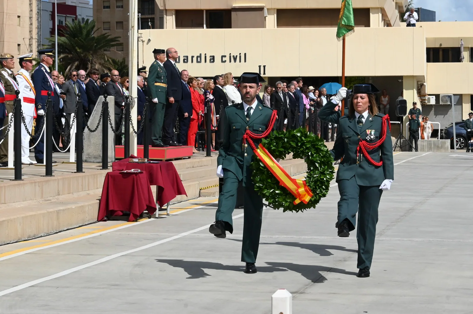
<instances>
[{"instance_id":1,"label":"man in navy uniform and peaked cap, right of the white-uniformed man","mask_svg":"<svg viewBox=\"0 0 473 314\"><path fill-rule=\"evenodd\" d=\"M54 61L54 49L38 50L38 55L40 63L31 75L36 94L35 105L37 117L35 133L41 133L42 129L40 129L40 127L42 125L44 126L44 109L48 101L48 92L51 92L51 100L54 102L54 83L49 71L49 67L53 65ZM44 163L44 136L41 136L41 139L35 146L35 160L38 163Z\"/></svg>"}]
</instances>

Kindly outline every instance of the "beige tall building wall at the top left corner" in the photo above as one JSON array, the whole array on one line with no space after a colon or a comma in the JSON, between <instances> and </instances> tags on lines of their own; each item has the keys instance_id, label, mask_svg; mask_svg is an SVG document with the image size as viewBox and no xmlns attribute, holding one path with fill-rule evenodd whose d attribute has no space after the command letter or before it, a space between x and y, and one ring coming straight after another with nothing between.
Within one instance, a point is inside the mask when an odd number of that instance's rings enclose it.
<instances>
[{"instance_id":1,"label":"beige tall building wall at the top left corner","mask_svg":"<svg viewBox=\"0 0 473 314\"><path fill-rule=\"evenodd\" d=\"M31 29L30 1L32 4ZM0 0L0 52L10 53L16 58L35 51L36 0ZM18 62L15 63L15 70L18 71L20 67Z\"/></svg>"}]
</instances>

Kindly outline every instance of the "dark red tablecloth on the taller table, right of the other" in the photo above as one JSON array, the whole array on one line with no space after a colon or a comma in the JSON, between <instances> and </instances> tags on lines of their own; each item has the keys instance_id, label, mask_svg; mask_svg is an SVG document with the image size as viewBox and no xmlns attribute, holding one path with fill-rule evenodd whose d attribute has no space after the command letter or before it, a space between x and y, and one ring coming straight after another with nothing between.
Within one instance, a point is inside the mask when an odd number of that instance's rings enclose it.
<instances>
[{"instance_id":1,"label":"dark red tablecloth on the taller table, right of the other","mask_svg":"<svg viewBox=\"0 0 473 314\"><path fill-rule=\"evenodd\" d=\"M133 156L131 156L133 158ZM149 184L158 186L157 203L163 207L167 202L172 201L177 195L186 195L181 178L170 161L159 163L138 163L129 162L129 158L112 162L112 170L140 169L148 176Z\"/></svg>"}]
</instances>

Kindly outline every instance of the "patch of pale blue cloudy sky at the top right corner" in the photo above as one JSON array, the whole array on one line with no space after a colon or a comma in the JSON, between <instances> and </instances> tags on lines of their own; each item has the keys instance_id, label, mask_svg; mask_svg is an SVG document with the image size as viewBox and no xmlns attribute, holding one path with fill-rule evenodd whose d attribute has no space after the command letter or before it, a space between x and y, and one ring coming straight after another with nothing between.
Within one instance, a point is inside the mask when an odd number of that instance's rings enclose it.
<instances>
[{"instance_id":1,"label":"patch of pale blue cloudy sky at the top right corner","mask_svg":"<svg viewBox=\"0 0 473 314\"><path fill-rule=\"evenodd\" d=\"M415 0L414 6L436 11L437 21L473 21L473 0Z\"/></svg>"}]
</instances>

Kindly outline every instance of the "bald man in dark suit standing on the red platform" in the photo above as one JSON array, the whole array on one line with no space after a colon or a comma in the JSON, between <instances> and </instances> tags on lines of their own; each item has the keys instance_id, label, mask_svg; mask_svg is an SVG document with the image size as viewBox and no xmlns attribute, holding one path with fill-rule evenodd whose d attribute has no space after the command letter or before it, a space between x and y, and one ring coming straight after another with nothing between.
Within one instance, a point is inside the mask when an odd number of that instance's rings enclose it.
<instances>
[{"instance_id":1,"label":"bald man in dark suit standing on the red platform","mask_svg":"<svg viewBox=\"0 0 473 314\"><path fill-rule=\"evenodd\" d=\"M174 140L174 128L177 120L177 109L182 100L182 81L181 73L177 68L175 61L178 54L175 48L166 49L166 58L163 66L166 69L166 110L164 111L163 123L163 143L169 146L182 146Z\"/></svg>"}]
</instances>

